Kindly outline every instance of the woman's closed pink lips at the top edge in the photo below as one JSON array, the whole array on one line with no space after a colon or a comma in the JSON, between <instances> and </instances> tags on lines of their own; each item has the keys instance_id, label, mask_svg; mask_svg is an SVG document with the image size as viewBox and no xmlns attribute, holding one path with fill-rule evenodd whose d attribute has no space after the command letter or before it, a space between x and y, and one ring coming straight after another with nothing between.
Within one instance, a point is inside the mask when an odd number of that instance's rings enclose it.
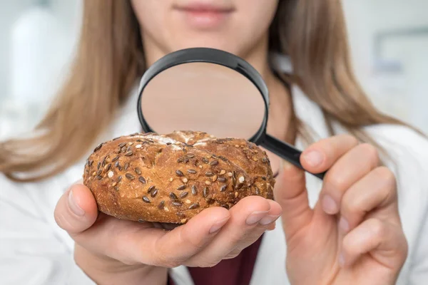
<instances>
[{"instance_id":1,"label":"woman's closed pink lips at the top edge","mask_svg":"<svg viewBox=\"0 0 428 285\"><path fill-rule=\"evenodd\" d=\"M232 6L215 6L201 1L177 5L173 8L185 16L189 26L198 29L217 28L235 11Z\"/></svg>"}]
</instances>

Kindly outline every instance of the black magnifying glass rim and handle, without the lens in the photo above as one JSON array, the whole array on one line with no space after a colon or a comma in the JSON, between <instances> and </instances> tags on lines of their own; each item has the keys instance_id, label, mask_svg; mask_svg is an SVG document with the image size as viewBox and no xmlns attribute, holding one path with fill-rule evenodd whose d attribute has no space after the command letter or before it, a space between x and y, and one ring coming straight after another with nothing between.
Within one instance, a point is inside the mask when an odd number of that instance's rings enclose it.
<instances>
[{"instance_id":1,"label":"black magnifying glass rim and handle, without the lens","mask_svg":"<svg viewBox=\"0 0 428 285\"><path fill-rule=\"evenodd\" d=\"M150 81L159 73L173 66L178 66L185 63L213 63L220 66L225 66L227 68L233 69L234 71L237 71L241 75L245 76L245 78L247 78L251 83L253 83L254 86L259 90L260 95L263 97L263 102L265 104L265 115L260 128L258 128L258 131L251 138L247 138L246 140L254 142L256 145L265 147L266 150L275 153L275 155L282 157L282 159L285 159L300 169L305 170L300 163L300 155L302 154L300 150L297 150L297 148L293 147L287 142L278 140L277 138L272 137L266 133L267 118L269 118L269 90L267 90L265 81L263 81L260 73L258 73L258 71L256 71L255 68L253 68L253 66L251 66L250 63L245 61L243 58L235 56L233 53L228 53L227 51L221 51L215 48L185 48L179 51L174 51L173 53L168 53L166 56L163 56L147 69L140 81L137 102L138 120L140 120L141 127L143 128L144 132L156 133L156 130L153 130L151 126L148 125L141 108L141 98L143 97L144 88L146 88L148 83L150 83ZM315 175L321 180L325 176L325 172L311 174Z\"/></svg>"}]
</instances>

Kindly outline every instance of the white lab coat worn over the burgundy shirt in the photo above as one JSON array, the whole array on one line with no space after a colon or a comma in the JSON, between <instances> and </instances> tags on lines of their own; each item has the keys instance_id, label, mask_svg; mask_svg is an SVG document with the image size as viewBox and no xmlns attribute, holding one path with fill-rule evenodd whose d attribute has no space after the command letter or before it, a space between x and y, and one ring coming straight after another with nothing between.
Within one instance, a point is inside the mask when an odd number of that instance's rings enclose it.
<instances>
[{"instance_id":1,"label":"white lab coat worn over the burgundy shirt","mask_svg":"<svg viewBox=\"0 0 428 285\"><path fill-rule=\"evenodd\" d=\"M287 58L277 58L282 71L290 71ZM315 130L328 136L320 108L292 86L295 113ZM136 114L137 94L118 112L111 128L99 141L140 130ZM428 284L428 140L412 130L377 125L366 130L386 147L396 160L399 213L409 243L409 256L397 284ZM297 147L305 145L297 140ZM44 182L15 184L0 176L0 284L2 285L93 285L73 261L73 240L54 220L59 197L81 178L84 157L61 175ZM390 165L394 167L394 165ZM307 191L313 206L320 192L320 180L307 175ZM278 221L267 232L253 271L251 285L289 284L285 273L285 238ZM310 269L308 269L310 271ZM185 266L172 269L178 285L192 285Z\"/></svg>"}]
</instances>

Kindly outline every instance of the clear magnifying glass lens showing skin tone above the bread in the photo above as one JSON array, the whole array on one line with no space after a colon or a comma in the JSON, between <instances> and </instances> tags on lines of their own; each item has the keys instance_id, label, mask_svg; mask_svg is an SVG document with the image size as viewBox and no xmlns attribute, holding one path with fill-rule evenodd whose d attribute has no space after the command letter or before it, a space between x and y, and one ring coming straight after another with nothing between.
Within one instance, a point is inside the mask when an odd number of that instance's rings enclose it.
<instances>
[{"instance_id":1,"label":"clear magnifying glass lens showing skin tone above the bread","mask_svg":"<svg viewBox=\"0 0 428 285\"><path fill-rule=\"evenodd\" d=\"M249 139L260 129L265 103L242 74L215 63L183 63L151 79L141 94L151 130L202 131L217 138Z\"/></svg>"}]
</instances>

